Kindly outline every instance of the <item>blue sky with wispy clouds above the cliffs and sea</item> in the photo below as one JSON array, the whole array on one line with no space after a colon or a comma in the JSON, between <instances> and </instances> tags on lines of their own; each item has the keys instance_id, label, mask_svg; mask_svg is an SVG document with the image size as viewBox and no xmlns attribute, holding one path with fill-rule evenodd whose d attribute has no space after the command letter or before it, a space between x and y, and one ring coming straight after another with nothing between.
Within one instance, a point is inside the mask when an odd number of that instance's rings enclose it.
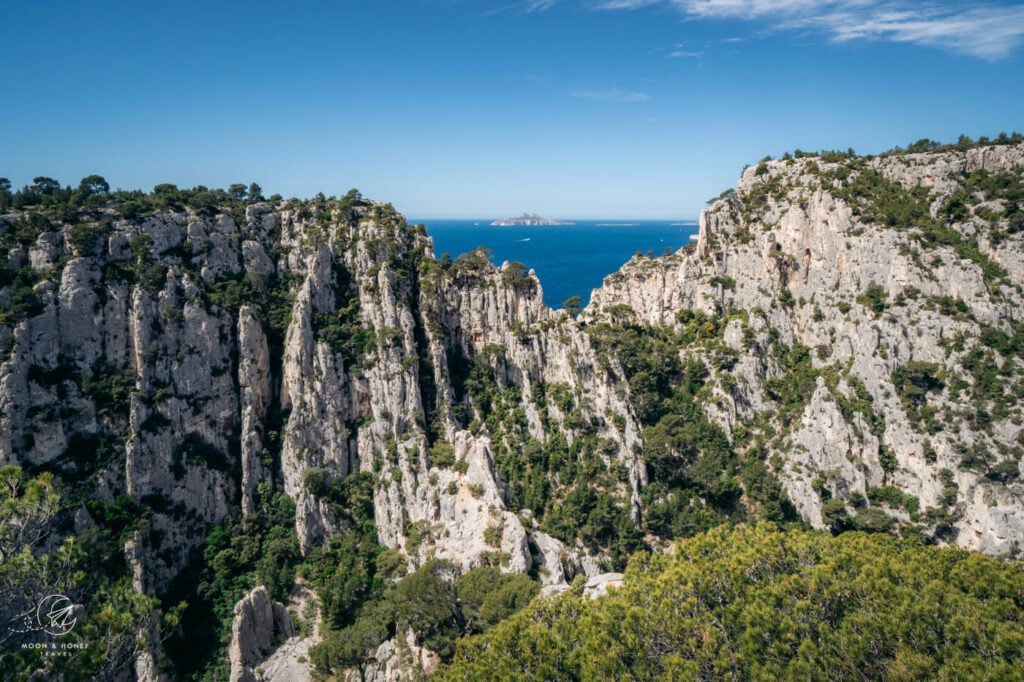
<instances>
[{"instance_id":1,"label":"blue sky with wispy clouds above the cliffs and sea","mask_svg":"<svg viewBox=\"0 0 1024 682\"><path fill-rule=\"evenodd\" d=\"M765 155L1024 131L1020 2L4 0L0 26L17 186L687 218Z\"/></svg>"}]
</instances>

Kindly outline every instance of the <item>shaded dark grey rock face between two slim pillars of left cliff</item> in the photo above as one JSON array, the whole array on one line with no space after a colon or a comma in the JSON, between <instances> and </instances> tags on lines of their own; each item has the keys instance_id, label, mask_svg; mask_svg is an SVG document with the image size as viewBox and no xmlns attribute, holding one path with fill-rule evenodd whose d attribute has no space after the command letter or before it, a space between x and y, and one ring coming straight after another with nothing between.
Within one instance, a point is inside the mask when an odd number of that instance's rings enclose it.
<instances>
[{"instance_id":1,"label":"shaded dark grey rock face between two slim pillars of left cliff","mask_svg":"<svg viewBox=\"0 0 1024 682\"><path fill-rule=\"evenodd\" d=\"M228 439L238 437L239 396L228 371L231 347L222 342L232 337L234 326L224 313L182 300L178 291L171 268L156 296L134 290L128 315L139 391L131 398L125 488L167 503L167 511L151 516L148 538L159 544L151 547L147 539L142 550L150 557L143 561L146 584L158 591L185 565L204 529L228 515L238 492ZM161 401L143 399L158 392ZM188 521L175 518L178 504L193 512Z\"/></svg>"}]
</instances>

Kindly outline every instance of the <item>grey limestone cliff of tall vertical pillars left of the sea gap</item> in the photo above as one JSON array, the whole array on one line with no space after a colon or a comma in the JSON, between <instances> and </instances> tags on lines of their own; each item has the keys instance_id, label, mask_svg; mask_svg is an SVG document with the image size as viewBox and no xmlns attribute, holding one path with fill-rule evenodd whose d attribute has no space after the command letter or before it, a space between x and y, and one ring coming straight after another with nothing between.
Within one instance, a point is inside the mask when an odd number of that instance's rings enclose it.
<instances>
[{"instance_id":1,"label":"grey limestone cliff of tall vertical pillars left of the sea gap","mask_svg":"<svg viewBox=\"0 0 1024 682\"><path fill-rule=\"evenodd\" d=\"M508 509L492 434L466 428L487 413L450 365L465 375L485 356L525 431L564 438L531 394L548 382L587 400L588 420L628 415L586 335L544 307L531 274L480 259L438 267L426 236L386 207L304 212L105 211L88 244L53 225L28 257L10 249L38 280L38 306L5 330L0 461L145 505L128 549L143 591L166 590L209 527L253 511L261 485L295 501L303 549L343 532L310 471L373 474L378 538L414 560L470 566L497 552L508 570L537 561L563 579L570 553ZM635 498L638 429L602 432ZM438 442L454 451L443 466L431 463Z\"/></svg>"}]
</instances>

